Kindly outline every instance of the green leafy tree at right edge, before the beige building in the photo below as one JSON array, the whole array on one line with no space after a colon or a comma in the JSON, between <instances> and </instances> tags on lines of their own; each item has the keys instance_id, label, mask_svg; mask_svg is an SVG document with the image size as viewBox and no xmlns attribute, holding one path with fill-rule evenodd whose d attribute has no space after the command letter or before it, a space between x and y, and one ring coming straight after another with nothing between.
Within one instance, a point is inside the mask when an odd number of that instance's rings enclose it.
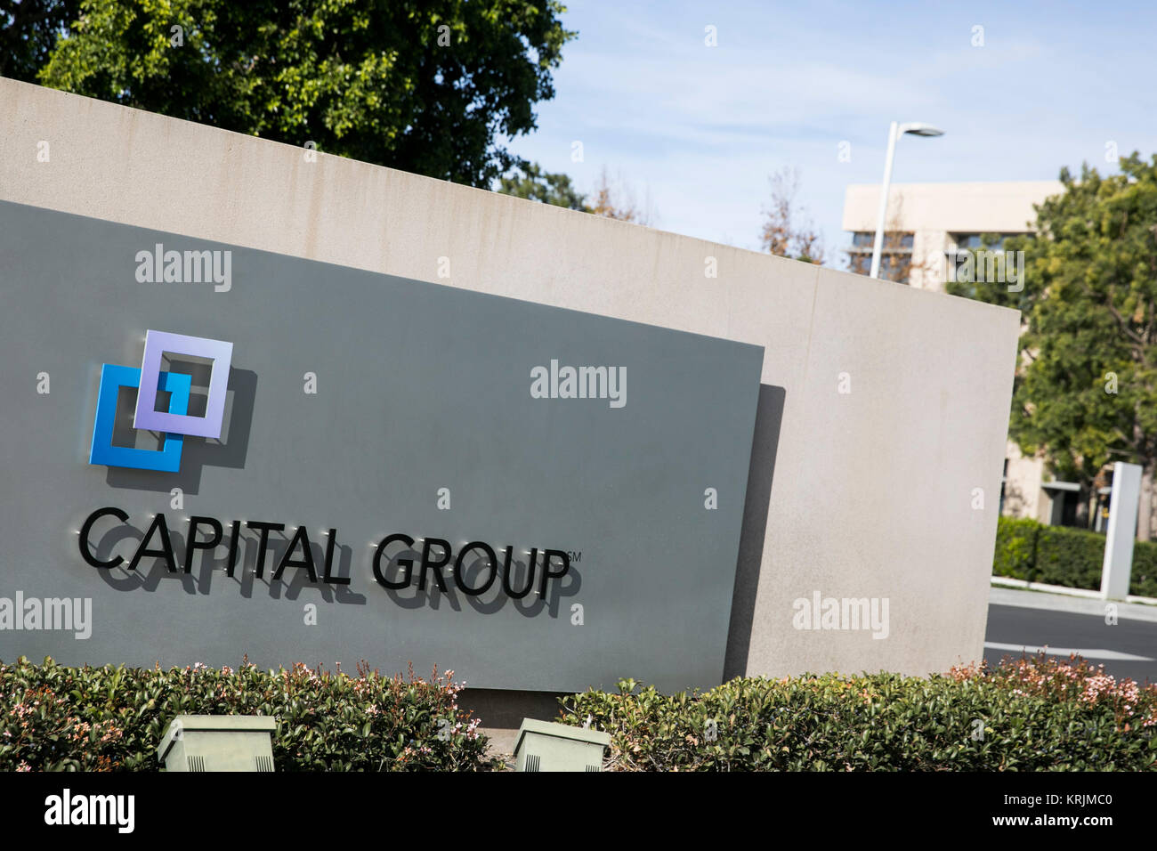
<instances>
[{"instance_id":1,"label":"green leafy tree at right edge, before the beige building","mask_svg":"<svg viewBox=\"0 0 1157 851\"><path fill-rule=\"evenodd\" d=\"M1141 464L1138 536L1152 529L1157 471L1157 156L1120 175L1061 171L1064 191L1036 207L1023 250L1024 288L1002 280L949 285L1023 311L1025 332L1009 433L1061 478L1089 489L1105 464ZM977 276L979 277L979 276ZM988 276L985 276L988 278Z\"/></svg>"}]
</instances>

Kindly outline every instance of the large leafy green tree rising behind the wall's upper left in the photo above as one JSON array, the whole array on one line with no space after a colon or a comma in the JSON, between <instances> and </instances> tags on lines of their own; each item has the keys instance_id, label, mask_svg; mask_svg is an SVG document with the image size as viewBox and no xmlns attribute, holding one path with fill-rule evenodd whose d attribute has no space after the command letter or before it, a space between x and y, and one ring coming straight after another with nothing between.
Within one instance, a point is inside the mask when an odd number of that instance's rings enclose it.
<instances>
[{"instance_id":1,"label":"large leafy green tree rising behind the wall's upper left","mask_svg":"<svg viewBox=\"0 0 1157 851\"><path fill-rule=\"evenodd\" d=\"M575 34L558 0L83 0L47 86L488 186Z\"/></svg>"}]
</instances>

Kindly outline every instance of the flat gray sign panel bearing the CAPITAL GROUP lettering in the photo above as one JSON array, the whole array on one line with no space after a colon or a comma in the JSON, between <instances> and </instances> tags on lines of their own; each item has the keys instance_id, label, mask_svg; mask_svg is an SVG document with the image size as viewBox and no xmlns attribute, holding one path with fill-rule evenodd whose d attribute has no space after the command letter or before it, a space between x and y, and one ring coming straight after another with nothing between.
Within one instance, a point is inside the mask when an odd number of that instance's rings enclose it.
<instances>
[{"instance_id":1,"label":"flat gray sign panel bearing the CAPITAL GROUP lettering","mask_svg":"<svg viewBox=\"0 0 1157 851\"><path fill-rule=\"evenodd\" d=\"M0 659L720 682L761 349L9 203L0 294Z\"/></svg>"}]
</instances>

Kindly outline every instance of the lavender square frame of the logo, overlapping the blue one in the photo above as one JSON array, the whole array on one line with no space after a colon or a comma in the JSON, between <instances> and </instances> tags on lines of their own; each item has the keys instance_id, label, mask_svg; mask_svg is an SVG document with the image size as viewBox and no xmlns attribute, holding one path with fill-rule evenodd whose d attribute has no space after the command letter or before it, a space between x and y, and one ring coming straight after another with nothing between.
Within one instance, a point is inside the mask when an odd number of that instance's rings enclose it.
<instances>
[{"instance_id":1,"label":"lavender square frame of the logo, overlapping the blue one","mask_svg":"<svg viewBox=\"0 0 1157 851\"><path fill-rule=\"evenodd\" d=\"M161 354L191 354L213 361L209 373L209 397L205 403L205 416L169 413L154 410L156 391L161 380ZM224 394L229 384L229 364L233 360L233 343L186 337L183 333L148 331L145 335L145 359L141 361L141 384L137 394L137 412L133 428L150 432L171 432L198 438L221 436L221 420L224 419Z\"/></svg>"}]
</instances>

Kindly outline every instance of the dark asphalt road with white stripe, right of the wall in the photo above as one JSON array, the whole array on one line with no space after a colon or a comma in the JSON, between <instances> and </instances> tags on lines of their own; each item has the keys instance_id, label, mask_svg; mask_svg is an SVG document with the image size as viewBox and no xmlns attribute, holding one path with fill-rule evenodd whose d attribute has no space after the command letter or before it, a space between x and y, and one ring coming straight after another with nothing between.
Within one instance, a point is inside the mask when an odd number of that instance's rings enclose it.
<instances>
[{"instance_id":1,"label":"dark asphalt road with white stripe, right of the wall","mask_svg":"<svg viewBox=\"0 0 1157 851\"><path fill-rule=\"evenodd\" d=\"M1063 656L1083 651L1085 659L1104 665L1113 676L1157 682L1157 622L1121 618L1110 626L1104 616L990 604L985 634L988 663L1005 655L1019 658L1025 646L1030 652L1047 646L1054 654L1063 651Z\"/></svg>"}]
</instances>

